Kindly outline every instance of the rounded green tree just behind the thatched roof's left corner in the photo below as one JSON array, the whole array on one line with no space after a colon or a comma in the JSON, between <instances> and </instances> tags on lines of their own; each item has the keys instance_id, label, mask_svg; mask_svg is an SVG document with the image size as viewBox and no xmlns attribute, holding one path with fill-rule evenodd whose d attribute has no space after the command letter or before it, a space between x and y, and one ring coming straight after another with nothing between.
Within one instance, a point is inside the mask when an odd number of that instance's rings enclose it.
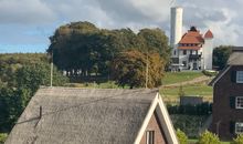
<instances>
[{"instance_id":1,"label":"rounded green tree just behind the thatched roof's left corner","mask_svg":"<svg viewBox=\"0 0 243 144\"><path fill-rule=\"evenodd\" d=\"M40 85L50 86L51 70L47 63L36 63L23 65L15 73L15 81L19 94L22 96L22 104L25 107L31 96L38 91ZM67 79L54 66L53 85L64 85Z\"/></svg>"}]
</instances>

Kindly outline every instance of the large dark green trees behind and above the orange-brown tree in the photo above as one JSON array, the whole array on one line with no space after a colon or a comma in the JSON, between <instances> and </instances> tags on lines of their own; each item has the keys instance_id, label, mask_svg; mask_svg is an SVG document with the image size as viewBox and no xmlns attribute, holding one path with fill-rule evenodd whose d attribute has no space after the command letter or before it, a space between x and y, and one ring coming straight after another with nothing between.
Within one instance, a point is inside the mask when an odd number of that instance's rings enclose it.
<instances>
[{"instance_id":1,"label":"large dark green trees behind and above the orange-brown tree","mask_svg":"<svg viewBox=\"0 0 243 144\"><path fill-rule=\"evenodd\" d=\"M47 52L53 53L54 64L71 76L107 76L114 58L126 51L160 53L165 64L170 54L168 38L160 29L142 29L136 34L129 28L106 30L73 22L56 29L50 41Z\"/></svg>"}]
</instances>

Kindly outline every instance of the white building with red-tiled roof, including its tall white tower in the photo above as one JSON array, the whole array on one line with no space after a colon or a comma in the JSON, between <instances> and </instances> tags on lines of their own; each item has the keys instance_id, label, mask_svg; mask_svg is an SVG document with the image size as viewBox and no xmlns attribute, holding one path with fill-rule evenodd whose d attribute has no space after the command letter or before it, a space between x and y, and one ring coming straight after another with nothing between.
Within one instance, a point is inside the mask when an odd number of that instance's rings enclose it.
<instances>
[{"instance_id":1,"label":"white building with red-tiled roof, including its tall white tower","mask_svg":"<svg viewBox=\"0 0 243 144\"><path fill-rule=\"evenodd\" d=\"M182 8L171 8L171 68L177 70L212 70L213 33L201 34L196 27L182 33Z\"/></svg>"}]
</instances>

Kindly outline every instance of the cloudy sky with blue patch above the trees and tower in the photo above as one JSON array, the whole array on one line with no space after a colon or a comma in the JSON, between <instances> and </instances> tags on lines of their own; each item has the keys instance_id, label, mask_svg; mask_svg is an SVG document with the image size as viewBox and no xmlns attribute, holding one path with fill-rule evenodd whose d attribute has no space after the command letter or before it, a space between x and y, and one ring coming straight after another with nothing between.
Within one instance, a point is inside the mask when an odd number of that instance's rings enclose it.
<instances>
[{"instance_id":1,"label":"cloudy sky with blue patch above the trees and tower","mask_svg":"<svg viewBox=\"0 0 243 144\"><path fill-rule=\"evenodd\" d=\"M243 45L243 0L177 0L183 29L214 34L214 45ZM98 28L160 28L169 37L171 0L0 0L0 53L45 52L49 37L72 21Z\"/></svg>"}]
</instances>

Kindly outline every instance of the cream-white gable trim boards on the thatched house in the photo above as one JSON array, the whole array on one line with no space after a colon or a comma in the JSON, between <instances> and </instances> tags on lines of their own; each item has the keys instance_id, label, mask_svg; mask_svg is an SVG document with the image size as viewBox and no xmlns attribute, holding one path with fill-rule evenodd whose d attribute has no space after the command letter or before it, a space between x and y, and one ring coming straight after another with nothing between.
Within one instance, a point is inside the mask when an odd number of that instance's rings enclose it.
<instances>
[{"instance_id":1,"label":"cream-white gable trim boards on the thatched house","mask_svg":"<svg viewBox=\"0 0 243 144\"><path fill-rule=\"evenodd\" d=\"M165 138L167 140L167 142L169 144L179 144L172 122L159 93L157 93L156 97L154 99L134 144L140 143L142 135L148 126L148 123L155 112L157 112L158 114L158 121L162 127L161 131L165 132Z\"/></svg>"}]
</instances>

